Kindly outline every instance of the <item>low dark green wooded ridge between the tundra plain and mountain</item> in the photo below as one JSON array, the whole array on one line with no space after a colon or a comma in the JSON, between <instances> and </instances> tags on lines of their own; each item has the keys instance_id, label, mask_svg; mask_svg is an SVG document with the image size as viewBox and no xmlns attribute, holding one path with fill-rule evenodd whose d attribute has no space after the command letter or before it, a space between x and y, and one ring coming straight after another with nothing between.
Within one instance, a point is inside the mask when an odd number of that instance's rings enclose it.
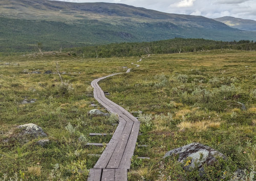
<instances>
[{"instance_id":1,"label":"low dark green wooded ridge between the tundra plain and mountain","mask_svg":"<svg viewBox=\"0 0 256 181\"><path fill-rule=\"evenodd\" d=\"M102 46L67 49L66 51L75 52L78 56L100 58L141 56L145 54L184 53L215 49L255 51L256 42L249 40L228 42L206 39L174 38L153 42L112 43Z\"/></svg>"}]
</instances>

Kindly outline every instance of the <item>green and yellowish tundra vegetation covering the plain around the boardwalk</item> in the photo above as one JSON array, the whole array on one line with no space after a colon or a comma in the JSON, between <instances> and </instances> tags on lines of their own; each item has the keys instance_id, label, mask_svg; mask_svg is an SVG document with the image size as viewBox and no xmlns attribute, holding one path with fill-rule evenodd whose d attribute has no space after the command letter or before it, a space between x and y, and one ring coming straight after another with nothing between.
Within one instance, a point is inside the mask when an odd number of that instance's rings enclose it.
<instances>
[{"instance_id":1,"label":"green and yellowish tundra vegetation covering the plain around the boardwalk","mask_svg":"<svg viewBox=\"0 0 256 181\"><path fill-rule=\"evenodd\" d=\"M109 99L135 113L141 121L138 147L129 180L253 179L256 166L256 52L212 50L141 57L82 58L66 54L4 56L0 59L0 180L84 180L111 135L115 115L90 116L95 101L90 83L99 83ZM63 79L56 73L56 64ZM52 74L44 74L46 71ZM35 73L37 72L37 73ZM41 74L38 74L40 72ZM64 73L64 74L62 74ZM66 74L65 74L66 73ZM36 99L23 104L24 99ZM97 103L95 103L97 104ZM97 108L97 107L96 107ZM99 107L98 107L99 108ZM47 134L21 142L10 139L18 125L34 123ZM9 138L9 141L5 140ZM13 137L12 137L13 138ZM184 170L176 156L164 154L192 142L208 145L227 156L215 165ZM150 160L138 159L150 157ZM237 172L243 172L239 175Z\"/></svg>"}]
</instances>

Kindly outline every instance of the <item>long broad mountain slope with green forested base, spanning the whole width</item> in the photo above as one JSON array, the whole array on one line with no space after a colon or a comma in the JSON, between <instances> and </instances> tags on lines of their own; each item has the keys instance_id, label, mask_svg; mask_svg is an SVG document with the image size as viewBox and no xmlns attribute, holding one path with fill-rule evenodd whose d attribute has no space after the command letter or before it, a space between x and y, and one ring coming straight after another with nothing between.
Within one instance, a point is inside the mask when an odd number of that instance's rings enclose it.
<instances>
[{"instance_id":1,"label":"long broad mountain slope with green forested base, spanning the whole width","mask_svg":"<svg viewBox=\"0 0 256 181\"><path fill-rule=\"evenodd\" d=\"M182 38L256 40L256 32L233 29L203 16L168 14L111 3L48 0L0 1L0 51L44 50Z\"/></svg>"}]
</instances>

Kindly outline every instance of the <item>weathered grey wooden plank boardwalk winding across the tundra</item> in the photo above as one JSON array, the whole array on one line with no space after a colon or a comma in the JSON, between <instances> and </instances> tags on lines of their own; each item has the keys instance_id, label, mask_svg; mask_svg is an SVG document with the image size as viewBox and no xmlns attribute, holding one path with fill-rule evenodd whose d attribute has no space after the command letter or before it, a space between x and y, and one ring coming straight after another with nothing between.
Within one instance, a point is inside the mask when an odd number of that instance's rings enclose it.
<instances>
[{"instance_id":1,"label":"weathered grey wooden plank boardwalk winding across the tundra","mask_svg":"<svg viewBox=\"0 0 256 181\"><path fill-rule=\"evenodd\" d=\"M130 71L131 69L128 69L126 73ZM131 159L139 134L140 122L127 110L107 99L104 96L103 90L98 85L100 80L118 74L101 77L91 82L94 88L94 98L105 107L106 110L119 116L119 124L94 168L90 169L88 177L90 181L125 181L127 180L127 170L129 170L131 166Z\"/></svg>"}]
</instances>

